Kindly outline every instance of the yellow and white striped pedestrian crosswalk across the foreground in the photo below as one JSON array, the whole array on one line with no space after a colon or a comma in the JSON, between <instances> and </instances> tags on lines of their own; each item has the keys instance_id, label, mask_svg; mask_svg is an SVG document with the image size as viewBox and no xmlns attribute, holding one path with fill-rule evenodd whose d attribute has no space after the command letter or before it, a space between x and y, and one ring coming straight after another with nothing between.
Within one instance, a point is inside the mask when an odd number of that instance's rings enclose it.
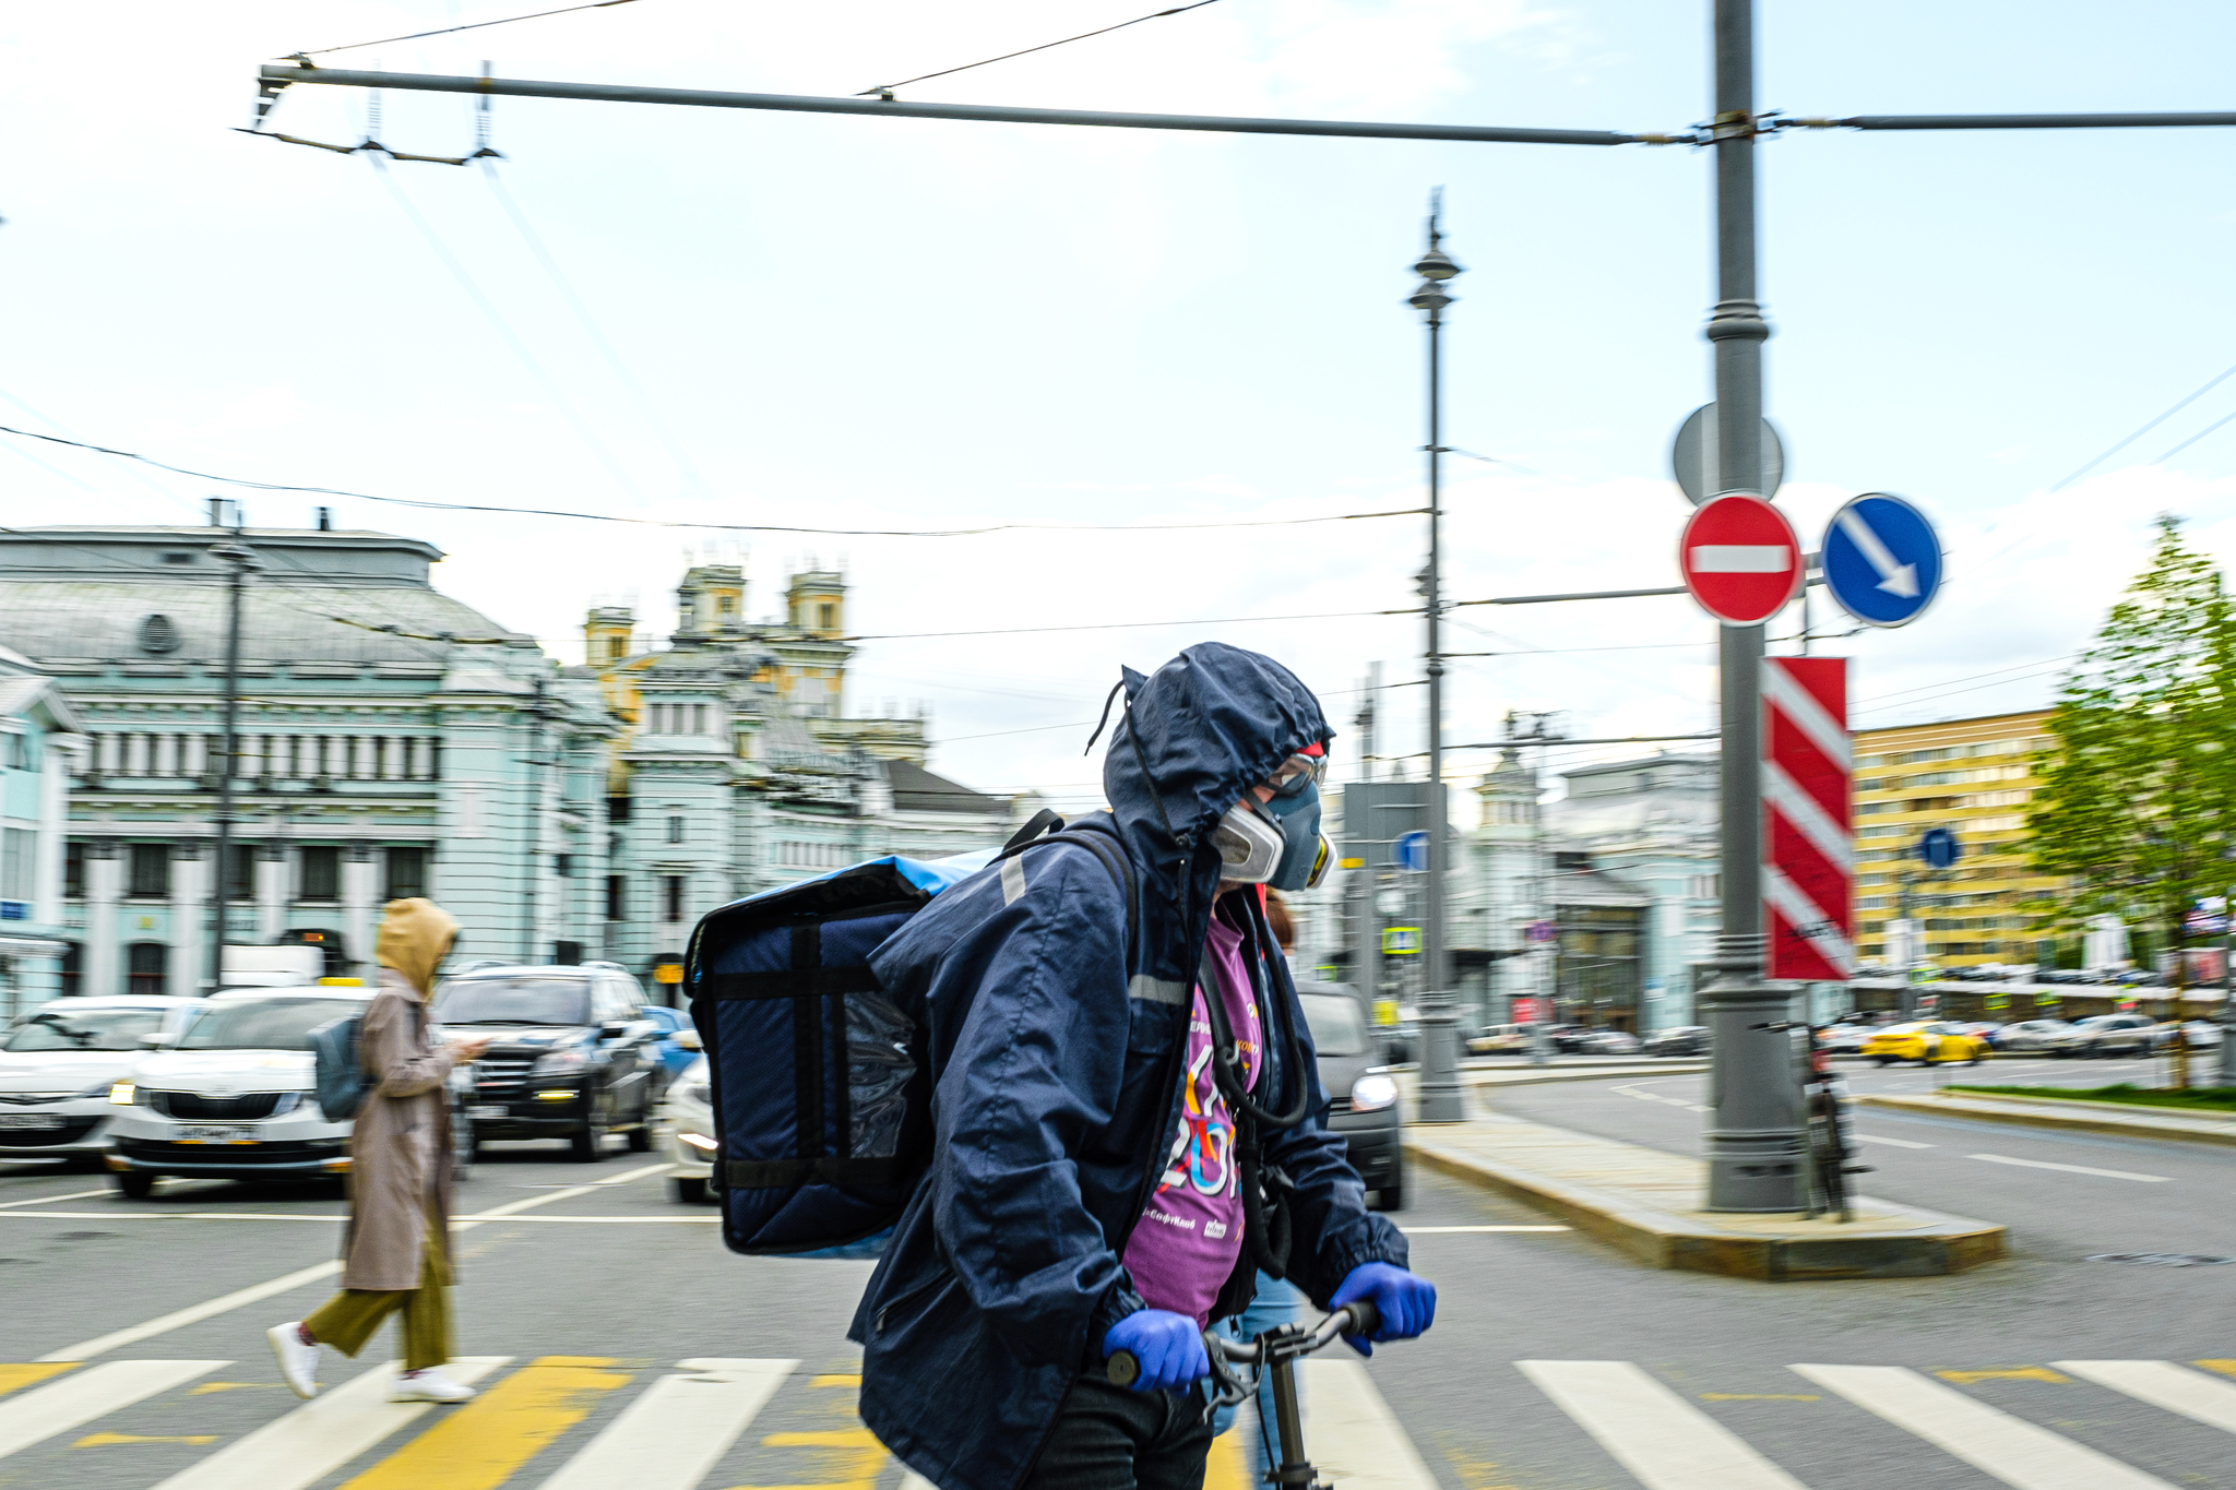
<instances>
[{"instance_id":1,"label":"yellow and white striped pedestrian crosswalk across the foreground","mask_svg":"<svg viewBox=\"0 0 2236 1490\"><path fill-rule=\"evenodd\" d=\"M447 1367L481 1389L463 1407L387 1401L394 1365L344 1367L309 1403L295 1403L273 1383L215 1381L235 1365L248 1374L266 1369L230 1360L0 1363L0 1483L65 1483L54 1465L76 1454L67 1483L132 1490L754 1490L776 1483L783 1490L930 1490L861 1427L854 1416L859 1376L816 1372L800 1360L693 1356L655 1365L606 1356L467 1356ZM1959 1468L1970 1465L2012 1490L2176 1490L2225 1483L2216 1474L2225 1477L2236 1463L2236 1445L2220 1439L2236 1434L2236 1360L2053 1360L1943 1372L1782 1367L1789 1385L1813 1392L1688 1392L1677 1381L1690 1383L1695 1372L1652 1372L1630 1360L1516 1360L1505 1369L1512 1376L1500 1383L1494 1372L1482 1387L1482 1419L1494 1439L1525 1432L1509 1423L1532 1419L1523 1410L1527 1401L1550 1403L1558 1416L1541 1410L1534 1432L1565 1423L1563 1443L1574 1454L1603 1454L1599 1481L1626 1483L1628 1474L1643 1490L1811 1490L1825 1461L1798 1459L1809 1450L1796 1445L1822 1436L1829 1419L1813 1419L1800 1439L1780 1436L1762 1430L1762 1416L1722 1412L1726 1403L1854 1410L1847 1436L1876 1434L1872 1443L1887 1474L1858 1481L1854 1465L1845 1465L1836 1474L1840 1486L1972 1483ZM1444 1434L1436 1427L1409 1432L1366 1365L1315 1358L1304 1372L1306 1436L1324 1479L1344 1490L1478 1483L1467 1465L1433 1468ZM1389 1378L1382 1381L1386 1387ZM1997 1387L2015 1389L1999 1396ZM259 1389L264 1396L255 1394ZM217 1423L197 1421L210 1414L212 1398L239 1407L228 1419L235 1432L208 1432ZM2133 1425L2138 1412L2144 1419ZM2104 1423L2129 1423L2133 1456L2149 1468L2113 1452L2120 1443L2106 1441ZM1769 1441L1755 1443L1751 1432ZM1903 1443L1910 1445L1903 1454L1887 1456L1889 1445ZM80 1465L94 1461L78 1450L107 1445L168 1459L141 1459L114 1479L83 1472ZM2198 1463L2176 1463L2182 1452L2196 1452ZM1545 1456L1543 1445L1536 1456ZM1212 1456L1207 1490L1243 1490L1250 1479L1243 1465L1245 1454L1230 1436Z\"/></svg>"}]
</instances>

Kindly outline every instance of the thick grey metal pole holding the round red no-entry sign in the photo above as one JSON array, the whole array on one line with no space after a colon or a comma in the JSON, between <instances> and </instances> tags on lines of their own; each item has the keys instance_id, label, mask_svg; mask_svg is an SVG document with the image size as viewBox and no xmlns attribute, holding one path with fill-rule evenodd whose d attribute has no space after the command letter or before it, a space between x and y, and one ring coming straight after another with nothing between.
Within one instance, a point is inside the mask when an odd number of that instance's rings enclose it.
<instances>
[{"instance_id":1,"label":"thick grey metal pole holding the round red no-entry sign","mask_svg":"<svg viewBox=\"0 0 2236 1490\"><path fill-rule=\"evenodd\" d=\"M1755 304L1755 16L1715 0L1717 489L1762 485L1762 342ZM1708 1209L1798 1211L1802 1126L1787 996L1762 985L1762 628L1722 628L1724 932L1702 1010L1713 1030Z\"/></svg>"}]
</instances>

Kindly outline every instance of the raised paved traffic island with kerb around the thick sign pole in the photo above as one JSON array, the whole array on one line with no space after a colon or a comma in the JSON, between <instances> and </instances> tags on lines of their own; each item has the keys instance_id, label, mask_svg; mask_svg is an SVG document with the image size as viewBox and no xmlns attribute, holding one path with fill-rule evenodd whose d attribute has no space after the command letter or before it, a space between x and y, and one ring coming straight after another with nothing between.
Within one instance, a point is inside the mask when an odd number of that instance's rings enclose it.
<instances>
[{"instance_id":1,"label":"raised paved traffic island with kerb around the thick sign pole","mask_svg":"<svg viewBox=\"0 0 2236 1490\"><path fill-rule=\"evenodd\" d=\"M1666 1068L1661 1068L1666 1070ZM1605 1072L1601 1072L1605 1074ZM1406 1128L1415 1164L1512 1195L1648 1267L1726 1278L1927 1278L2003 1255L2003 1226L1858 1197L1856 1220L1711 1215L1706 1164L1482 1110Z\"/></svg>"}]
</instances>

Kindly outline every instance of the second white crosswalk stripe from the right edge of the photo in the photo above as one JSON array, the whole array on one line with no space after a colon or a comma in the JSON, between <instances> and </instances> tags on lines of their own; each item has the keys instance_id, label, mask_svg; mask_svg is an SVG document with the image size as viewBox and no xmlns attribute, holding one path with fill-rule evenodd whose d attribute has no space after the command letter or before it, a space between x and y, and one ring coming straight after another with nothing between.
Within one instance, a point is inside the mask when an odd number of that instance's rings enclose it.
<instances>
[{"instance_id":1,"label":"second white crosswalk stripe from the right edge of the photo","mask_svg":"<svg viewBox=\"0 0 2236 1490\"><path fill-rule=\"evenodd\" d=\"M1793 1369L2012 1490L2171 1490L2156 1474L1898 1365Z\"/></svg>"}]
</instances>

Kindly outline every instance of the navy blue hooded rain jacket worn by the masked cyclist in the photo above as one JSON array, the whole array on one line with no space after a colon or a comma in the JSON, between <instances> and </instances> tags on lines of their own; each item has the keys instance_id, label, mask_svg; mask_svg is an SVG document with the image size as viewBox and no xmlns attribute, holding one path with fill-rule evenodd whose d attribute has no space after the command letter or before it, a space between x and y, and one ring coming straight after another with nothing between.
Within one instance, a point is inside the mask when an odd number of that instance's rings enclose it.
<instances>
[{"instance_id":1,"label":"navy blue hooded rain jacket worn by the masked cyclist","mask_svg":"<svg viewBox=\"0 0 2236 1490\"><path fill-rule=\"evenodd\" d=\"M944 1490L1015 1490L1102 1331L1147 1307L1127 1278L1140 1220L1181 1121L1187 1012L1219 851L1212 827L1308 744L1330 737L1310 690L1257 652L1205 643L1143 677L1102 764L1111 811L1071 824L1120 847L1127 896L1078 844L1026 849L935 898L870 958L926 1010L937 1148L850 1338L861 1414ZM1270 947L1257 896L1239 896ZM1366 1211L1324 1128L1310 1032L1279 956L1263 958L1275 1030L1254 1090L1272 1112L1306 1083L1313 1119L1261 1130L1295 1182L1288 1276L1321 1307L1362 1262L1404 1267L1404 1235ZM1248 1267L1248 1264L1245 1264ZM1100 1354L1100 1351L1096 1351Z\"/></svg>"}]
</instances>

